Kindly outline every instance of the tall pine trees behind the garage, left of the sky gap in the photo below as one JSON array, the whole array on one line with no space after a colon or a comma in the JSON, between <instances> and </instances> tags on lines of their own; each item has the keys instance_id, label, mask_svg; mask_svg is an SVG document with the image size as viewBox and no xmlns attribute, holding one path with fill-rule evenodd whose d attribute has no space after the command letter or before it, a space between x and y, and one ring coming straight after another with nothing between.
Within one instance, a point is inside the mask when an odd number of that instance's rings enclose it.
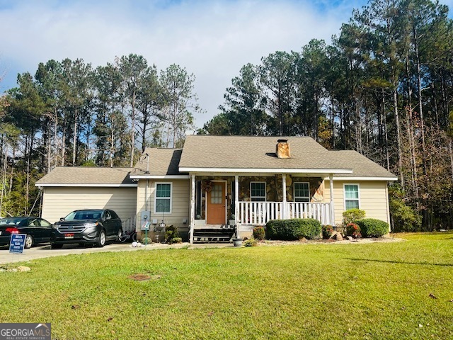
<instances>
[{"instance_id":1,"label":"tall pine trees behind the garage, left of the sky gap","mask_svg":"<svg viewBox=\"0 0 453 340\"><path fill-rule=\"evenodd\" d=\"M0 102L1 215L39 213L35 181L55 166L133 166L145 147L181 147L200 111L195 76L141 55L93 68L49 60Z\"/></svg>"}]
</instances>

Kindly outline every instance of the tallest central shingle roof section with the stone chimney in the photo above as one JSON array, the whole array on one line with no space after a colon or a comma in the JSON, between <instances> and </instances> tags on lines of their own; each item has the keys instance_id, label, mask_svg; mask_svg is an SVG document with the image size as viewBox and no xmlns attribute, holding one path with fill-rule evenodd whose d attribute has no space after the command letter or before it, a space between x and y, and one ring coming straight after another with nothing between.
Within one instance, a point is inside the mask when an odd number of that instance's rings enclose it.
<instances>
[{"instance_id":1,"label":"tallest central shingle roof section with the stone chimney","mask_svg":"<svg viewBox=\"0 0 453 340\"><path fill-rule=\"evenodd\" d=\"M287 139L290 159L275 155L277 140ZM182 168L351 169L311 137L187 136Z\"/></svg>"}]
</instances>

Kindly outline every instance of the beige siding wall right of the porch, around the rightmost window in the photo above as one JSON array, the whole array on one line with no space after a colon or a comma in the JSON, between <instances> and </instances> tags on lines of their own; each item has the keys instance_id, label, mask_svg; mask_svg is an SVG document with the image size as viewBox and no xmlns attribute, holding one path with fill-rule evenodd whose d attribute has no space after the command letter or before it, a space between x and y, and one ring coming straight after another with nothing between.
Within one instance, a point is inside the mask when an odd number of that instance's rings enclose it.
<instances>
[{"instance_id":1,"label":"beige siding wall right of the porch, around the rightmost window","mask_svg":"<svg viewBox=\"0 0 453 340\"><path fill-rule=\"evenodd\" d=\"M329 181L325 180L324 201L329 202L331 193ZM389 196L386 181L333 181L333 204L335 205L335 222L341 223L345 211L344 184L358 184L360 209L365 210L366 217L376 218L390 223Z\"/></svg>"}]
</instances>

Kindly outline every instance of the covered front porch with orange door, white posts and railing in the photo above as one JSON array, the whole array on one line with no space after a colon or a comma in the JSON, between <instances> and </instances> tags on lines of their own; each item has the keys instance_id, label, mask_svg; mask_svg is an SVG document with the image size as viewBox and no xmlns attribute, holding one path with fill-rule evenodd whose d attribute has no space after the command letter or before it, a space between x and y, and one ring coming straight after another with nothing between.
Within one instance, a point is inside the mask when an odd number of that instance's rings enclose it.
<instances>
[{"instance_id":1,"label":"covered front porch with orange door, white posts and railing","mask_svg":"<svg viewBox=\"0 0 453 340\"><path fill-rule=\"evenodd\" d=\"M325 202L323 177L190 174L189 242L200 242L197 235L205 233L207 229L223 232L229 226L236 226L234 236L250 237L253 227L265 226L269 220L313 218L322 225L333 225L333 187L331 184L330 201ZM332 178L332 174L329 177ZM255 183L261 183L261 188ZM301 188L305 192L303 195L298 192ZM212 208L214 205L217 209ZM215 222L212 220L214 213L217 218ZM216 241L208 234L203 241L210 239ZM223 240L226 241L226 238Z\"/></svg>"}]
</instances>

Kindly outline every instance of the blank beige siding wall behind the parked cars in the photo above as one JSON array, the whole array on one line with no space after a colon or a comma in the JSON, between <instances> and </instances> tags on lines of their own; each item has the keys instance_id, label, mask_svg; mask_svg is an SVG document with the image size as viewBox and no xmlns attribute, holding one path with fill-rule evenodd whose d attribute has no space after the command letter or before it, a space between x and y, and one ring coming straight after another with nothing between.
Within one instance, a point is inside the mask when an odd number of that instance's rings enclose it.
<instances>
[{"instance_id":1,"label":"blank beige siding wall behind the parked cars","mask_svg":"<svg viewBox=\"0 0 453 340\"><path fill-rule=\"evenodd\" d=\"M57 222L76 209L111 209L124 222L135 215L137 188L45 187L42 218Z\"/></svg>"}]
</instances>

